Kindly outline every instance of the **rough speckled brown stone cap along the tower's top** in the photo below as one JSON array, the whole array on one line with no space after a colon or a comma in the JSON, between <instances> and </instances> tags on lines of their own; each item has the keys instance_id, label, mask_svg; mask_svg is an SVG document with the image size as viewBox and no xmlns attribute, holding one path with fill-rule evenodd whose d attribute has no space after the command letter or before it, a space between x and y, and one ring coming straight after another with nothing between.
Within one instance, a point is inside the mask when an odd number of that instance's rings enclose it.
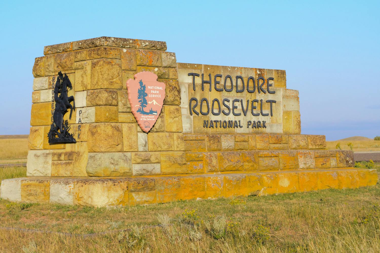
<instances>
[{"instance_id":1,"label":"rough speckled brown stone cap along the tower's top","mask_svg":"<svg viewBox=\"0 0 380 253\"><path fill-rule=\"evenodd\" d=\"M81 41L66 42L44 47L44 55L52 53L69 52L92 47L109 46L109 47L127 47L141 49L166 50L165 41L149 41L145 39L126 39L115 37L98 37L92 39L84 39Z\"/></svg>"}]
</instances>

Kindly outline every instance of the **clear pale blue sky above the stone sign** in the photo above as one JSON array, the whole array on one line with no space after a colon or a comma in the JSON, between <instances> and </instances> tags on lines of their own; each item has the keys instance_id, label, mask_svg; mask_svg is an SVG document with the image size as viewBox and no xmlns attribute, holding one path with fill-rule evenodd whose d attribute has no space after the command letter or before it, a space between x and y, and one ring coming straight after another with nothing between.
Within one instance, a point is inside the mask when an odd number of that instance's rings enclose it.
<instances>
[{"instance_id":1,"label":"clear pale blue sky above the stone sign","mask_svg":"<svg viewBox=\"0 0 380 253\"><path fill-rule=\"evenodd\" d=\"M43 47L166 41L178 62L285 69L302 134L380 135L380 1L1 1L0 135L28 134Z\"/></svg>"}]
</instances>

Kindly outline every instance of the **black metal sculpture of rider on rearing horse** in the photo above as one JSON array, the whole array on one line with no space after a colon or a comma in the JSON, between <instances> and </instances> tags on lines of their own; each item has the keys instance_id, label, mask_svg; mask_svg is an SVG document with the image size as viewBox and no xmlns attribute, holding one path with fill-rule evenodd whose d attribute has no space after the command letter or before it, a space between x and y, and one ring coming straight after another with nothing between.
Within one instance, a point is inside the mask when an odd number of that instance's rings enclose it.
<instances>
[{"instance_id":1,"label":"black metal sculpture of rider on rearing horse","mask_svg":"<svg viewBox=\"0 0 380 253\"><path fill-rule=\"evenodd\" d=\"M55 82L54 86L55 108L53 113L53 123L47 134L49 143L76 143L74 134L69 133L70 126L68 120L63 121L63 116L68 112L68 109L70 109L70 119L73 115L73 111L75 111L74 96L69 97L67 95L69 89L72 90L73 86L71 85L68 76L59 72L57 82ZM71 102L73 102L73 105L71 105Z\"/></svg>"}]
</instances>

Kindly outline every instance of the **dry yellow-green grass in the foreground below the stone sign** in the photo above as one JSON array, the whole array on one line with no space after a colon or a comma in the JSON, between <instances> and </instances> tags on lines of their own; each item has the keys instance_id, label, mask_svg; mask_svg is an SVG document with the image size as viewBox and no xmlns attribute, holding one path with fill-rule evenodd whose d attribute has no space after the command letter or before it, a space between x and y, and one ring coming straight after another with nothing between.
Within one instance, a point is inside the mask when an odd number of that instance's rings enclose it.
<instances>
[{"instance_id":1,"label":"dry yellow-green grass in the foreground below the stone sign","mask_svg":"<svg viewBox=\"0 0 380 253\"><path fill-rule=\"evenodd\" d=\"M380 172L380 163L375 168ZM380 185L124 208L0 200L0 223L72 234L113 231L83 238L0 228L0 252L375 253Z\"/></svg>"}]
</instances>

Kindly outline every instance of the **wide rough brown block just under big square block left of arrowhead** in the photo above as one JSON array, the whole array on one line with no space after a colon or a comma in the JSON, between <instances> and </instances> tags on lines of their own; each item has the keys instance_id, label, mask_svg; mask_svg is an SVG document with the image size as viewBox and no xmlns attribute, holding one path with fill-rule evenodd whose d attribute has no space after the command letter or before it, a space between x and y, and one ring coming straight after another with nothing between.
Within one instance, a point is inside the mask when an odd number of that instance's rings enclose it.
<instances>
[{"instance_id":1,"label":"wide rough brown block just under big square block left of arrowhead","mask_svg":"<svg viewBox=\"0 0 380 253\"><path fill-rule=\"evenodd\" d=\"M89 90L86 96L86 105L117 105L117 90Z\"/></svg>"}]
</instances>

